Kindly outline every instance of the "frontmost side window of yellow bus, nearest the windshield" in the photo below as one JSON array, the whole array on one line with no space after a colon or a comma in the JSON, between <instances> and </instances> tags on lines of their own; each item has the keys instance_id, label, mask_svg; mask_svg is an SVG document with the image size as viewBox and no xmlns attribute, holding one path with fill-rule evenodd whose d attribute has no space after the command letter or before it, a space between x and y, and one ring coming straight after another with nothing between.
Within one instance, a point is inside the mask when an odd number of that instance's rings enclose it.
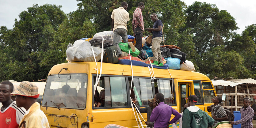
<instances>
[{"instance_id":1,"label":"frontmost side window of yellow bus, nearest the windshield","mask_svg":"<svg viewBox=\"0 0 256 128\"><path fill-rule=\"evenodd\" d=\"M96 76L94 76L94 83ZM99 107L119 107L128 106L127 89L125 77L105 77L102 76L98 85Z\"/></svg>"}]
</instances>

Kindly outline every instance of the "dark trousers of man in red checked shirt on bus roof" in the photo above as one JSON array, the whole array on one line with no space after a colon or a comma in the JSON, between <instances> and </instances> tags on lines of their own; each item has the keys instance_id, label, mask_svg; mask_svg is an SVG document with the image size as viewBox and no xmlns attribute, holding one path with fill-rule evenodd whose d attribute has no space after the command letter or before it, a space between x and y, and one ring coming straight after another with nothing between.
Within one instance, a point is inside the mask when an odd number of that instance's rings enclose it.
<instances>
[{"instance_id":1,"label":"dark trousers of man in red checked shirt on bus roof","mask_svg":"<svg viewBox=\"0 0 256 128\"><path fill-rule=\"evenodd\" d=\"M137 28L135 28L134 30L134 34L135 34L135 39L136 39L136 45L135 47L140 51L138 56L142 56L141 54L141 48L142 48L142 35L143 35L143 31L141 28L139 28L139 26L137 26Z\"/></svg>"}]
</instances>

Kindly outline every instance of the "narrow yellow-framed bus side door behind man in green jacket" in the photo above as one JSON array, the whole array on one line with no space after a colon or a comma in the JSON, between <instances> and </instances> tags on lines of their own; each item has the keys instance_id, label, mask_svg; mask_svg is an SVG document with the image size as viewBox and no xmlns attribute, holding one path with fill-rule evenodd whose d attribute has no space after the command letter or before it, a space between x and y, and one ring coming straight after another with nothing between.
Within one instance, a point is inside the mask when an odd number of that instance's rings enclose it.
<instances>
[{"instance_id":1,"label":"narrow yellow-framed bus side door behind man in green jacket","mask_svg":"<svg viewBox=\"0 0 256 128\"><path fill-rule=\"evenodd\" d=\"M184 105L188 102L186 98L192 94L191 85L193 81L189 80L178 80L178 88L179 88L179 109L180 113L184 110Z\"/></svg>"}]
</instances>

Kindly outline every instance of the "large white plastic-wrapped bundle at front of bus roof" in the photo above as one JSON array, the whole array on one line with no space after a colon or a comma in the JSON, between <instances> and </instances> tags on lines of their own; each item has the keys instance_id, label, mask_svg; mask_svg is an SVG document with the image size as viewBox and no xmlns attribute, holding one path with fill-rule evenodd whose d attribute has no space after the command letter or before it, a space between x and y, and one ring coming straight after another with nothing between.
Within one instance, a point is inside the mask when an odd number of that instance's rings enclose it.
<instances>
[{"instance_id":1,"label":"large white plastic-wrapped bundle at front of bus roof","mask_svg":"<svg viewBox=\"0 0 256 128\"><path fill-rule=\"evenodd\" d=\"M101 48L93 47L88 41L84 40L77 40L73 47L67 48L67 58L70 62L95 61L92 48L96 61L99 61L101 59Z\"/></svg>"}]
</instances>

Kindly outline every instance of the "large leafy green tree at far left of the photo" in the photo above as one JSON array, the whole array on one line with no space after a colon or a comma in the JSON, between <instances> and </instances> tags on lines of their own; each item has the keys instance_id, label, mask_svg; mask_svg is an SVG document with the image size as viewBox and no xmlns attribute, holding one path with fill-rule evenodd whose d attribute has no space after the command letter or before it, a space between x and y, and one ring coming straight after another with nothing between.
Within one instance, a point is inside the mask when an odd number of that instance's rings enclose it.
<instances>
[{"instance_id":1,"label":"large leafy green tree at far left of the photo","mask_svg":"<svg viewBox=\"0 0 256 128\"><path fill-rule=\"evenodd\" d=\"M0 29L0 53L4 53L0 79L44 79L53 65L63 62L59 59L59 48L53 47L53 37L67 16L61 6L36 4L19 17L12 30L3 26Z\"/></svg>"}]
</instances>

